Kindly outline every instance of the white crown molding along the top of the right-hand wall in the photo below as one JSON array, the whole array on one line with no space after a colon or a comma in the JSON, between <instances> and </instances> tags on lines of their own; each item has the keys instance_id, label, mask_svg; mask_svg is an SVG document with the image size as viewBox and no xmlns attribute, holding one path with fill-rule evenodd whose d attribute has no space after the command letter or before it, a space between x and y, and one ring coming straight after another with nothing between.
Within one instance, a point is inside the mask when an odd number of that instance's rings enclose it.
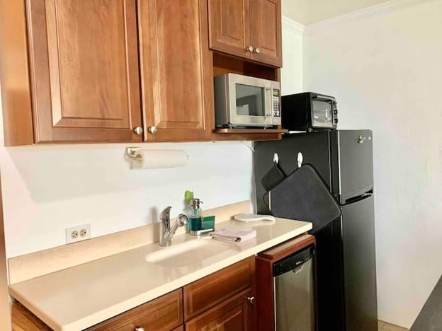
<instances>
[{"instance_id":1,"label":"white crown molding along the top of the right-hand wall","mask_svg":"<svg viewBox=\"0 0 442 331\"><path fill-rule=\"evenodd\" d=\"M370 6L367 8L360 9L358 11L352 11L351 13L345 13L343 15L327 18L324 21L319 21L316 23L312 23L310 25L305 25L304 35L312 35L316 31L324 30L324 28L327 28L329 25L346 23L348 21L353 21L355 19L378 15L380 13L387 13L389 11L396 11L399 8L412 6L414 4L419 4L424 1L438 1L438 0L390 0L382 4L377 4L375 6Z\"/></svg>"}]
</instances>

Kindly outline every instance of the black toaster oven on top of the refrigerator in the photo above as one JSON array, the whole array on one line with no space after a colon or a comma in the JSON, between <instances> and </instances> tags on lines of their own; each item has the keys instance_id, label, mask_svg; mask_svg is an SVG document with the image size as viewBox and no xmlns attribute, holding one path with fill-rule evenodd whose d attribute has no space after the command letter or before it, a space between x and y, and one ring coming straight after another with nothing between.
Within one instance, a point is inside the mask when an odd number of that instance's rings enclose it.
<instances>
[{"instance_id":1,"label":"black toaster oven on top of the refrigerator","mask_svg":"<svg viewBox=\"0 0 442 331\"><path fill-rule=\"evenodd\" d=\"M290 131L333 130L338 125L336 99L313 92L284 95L281 101L283 129Z\"/></svg>"}]
</instances>

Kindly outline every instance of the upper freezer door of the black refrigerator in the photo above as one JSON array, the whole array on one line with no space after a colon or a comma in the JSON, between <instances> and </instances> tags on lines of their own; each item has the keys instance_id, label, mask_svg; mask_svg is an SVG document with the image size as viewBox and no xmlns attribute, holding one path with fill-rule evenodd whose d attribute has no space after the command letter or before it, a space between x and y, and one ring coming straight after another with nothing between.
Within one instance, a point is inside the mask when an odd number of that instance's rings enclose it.
<instances>
[{"instance_id":1,"label":"upper freezer door of the black refrigerator","mask_svg":"<svg viewBox=\"0 0 442 331\"><path fill-rule=\"evenodd\" d=\"M373 190L373 140L370 130L330 132L331 190L340 204Z\"/></svg>"}]
</instances>

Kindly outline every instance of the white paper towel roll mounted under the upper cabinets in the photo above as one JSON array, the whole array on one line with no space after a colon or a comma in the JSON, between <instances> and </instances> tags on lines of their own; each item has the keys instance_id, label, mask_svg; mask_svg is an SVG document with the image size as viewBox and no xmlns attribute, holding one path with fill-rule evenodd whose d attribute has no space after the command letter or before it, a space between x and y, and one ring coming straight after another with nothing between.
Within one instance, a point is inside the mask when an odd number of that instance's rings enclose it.
<instances>
[{"instance_id":1,"label":"white paper towel roll mounted under the upper cabinets","mask_svg":"<svg viewBox=\"0 0 442 331\"><path fill-rule=\"evenodd\" d=\"M181 149L140 149L133 154L132 169L176 168L187 161L187 153Z\"/></svg>"}]
</instances>

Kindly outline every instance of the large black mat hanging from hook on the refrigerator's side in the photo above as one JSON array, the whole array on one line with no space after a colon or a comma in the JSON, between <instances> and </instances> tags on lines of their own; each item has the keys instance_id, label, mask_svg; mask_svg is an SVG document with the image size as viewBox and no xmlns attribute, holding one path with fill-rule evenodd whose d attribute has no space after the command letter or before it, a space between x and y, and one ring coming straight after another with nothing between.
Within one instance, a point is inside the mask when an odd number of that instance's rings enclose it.
<instances>
[{"instance_id":1,"label":"large black mat hanging from hook on the refrigerator's side","mask_svg":"<svg viewBox=\"0 0 442 331\"><path fill-rule=\"evenodd\" d=\"M268 191L263 201L271 214L312 222L310 233L341 216L339 204L312 165L302 165Z\"/></svg>"}]
</instances>

